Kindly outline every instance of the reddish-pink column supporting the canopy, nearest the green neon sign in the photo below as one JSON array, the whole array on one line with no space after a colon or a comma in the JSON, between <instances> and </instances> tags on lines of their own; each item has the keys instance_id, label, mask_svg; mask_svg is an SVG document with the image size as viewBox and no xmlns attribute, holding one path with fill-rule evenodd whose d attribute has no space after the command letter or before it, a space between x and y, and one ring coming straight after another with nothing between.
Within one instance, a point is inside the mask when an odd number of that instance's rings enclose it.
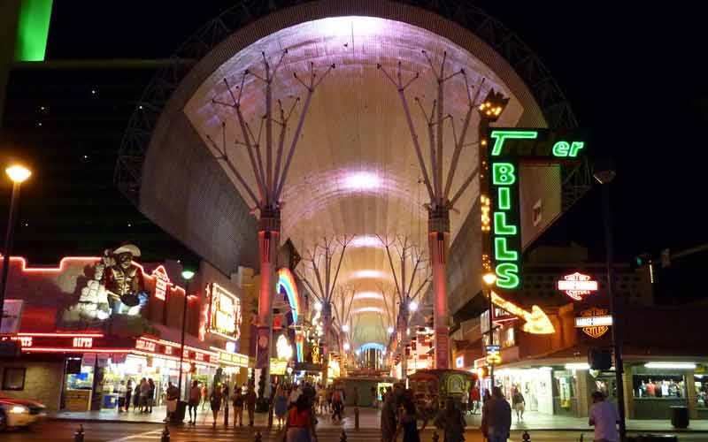
<instances>
[{"instance_id":1,"label":"reddish-pink column supporting the canopy, nearest the green neon sign","mask_svg":"<svg viewBox=\"0 0 708 442\"><path fill-rule=\"evenodd\" d=\"M447 294L448 242L450 238L450 210L438 207L428 212L428 246L433 266L433 326L435 328L435 369L450 368L450 328Z\"/></svg>"}]
</instances>

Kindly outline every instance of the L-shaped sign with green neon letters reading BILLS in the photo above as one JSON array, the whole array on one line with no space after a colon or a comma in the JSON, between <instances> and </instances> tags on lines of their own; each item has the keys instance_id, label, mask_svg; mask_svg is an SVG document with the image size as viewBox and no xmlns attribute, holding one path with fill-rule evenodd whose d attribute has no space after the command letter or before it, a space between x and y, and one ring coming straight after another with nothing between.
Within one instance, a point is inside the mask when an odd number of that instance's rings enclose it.
<instances>
[{"instance_id":1,"label":"L-shaped sign with green neon letters reading BILLS","mask_svg":"<svg viewBox=\"0 0 708 442\"><path fill-rule=\"evenodd\" d=\"M519 163L563 164L581 161L586 137L577 131L489 128L490 258L496 286L516 290L521 284L521 215Z\"/></svg>"}]
</instances>

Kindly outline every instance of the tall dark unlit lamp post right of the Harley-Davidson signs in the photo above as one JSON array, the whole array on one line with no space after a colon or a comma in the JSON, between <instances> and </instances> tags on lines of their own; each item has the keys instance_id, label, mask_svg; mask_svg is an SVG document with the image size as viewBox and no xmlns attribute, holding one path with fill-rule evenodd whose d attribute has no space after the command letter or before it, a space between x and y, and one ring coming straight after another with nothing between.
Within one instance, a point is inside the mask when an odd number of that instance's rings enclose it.
<instances>
[{"instance_id":1,"label":"tall dark unlit lamp post right of the Harley-Davidson signs","mask_svg":"<svg viewBox=\"0 0 708 442\"><path fill-rule=\"evenodd\" d=\"M610 217L610 183L617 173L612 161L598 161L593 176L603 188L604 248L607 257L607 297L610 298L612 315L612 347L614 350L614 374L617 385L617 408L620 413L620 441L627 440L627 421L625 416L624 364L622 363L622 313L621 306L614 299L612 262L614 261L614 243L612 239L612 218Z\"/></svg>"}]
</instances>

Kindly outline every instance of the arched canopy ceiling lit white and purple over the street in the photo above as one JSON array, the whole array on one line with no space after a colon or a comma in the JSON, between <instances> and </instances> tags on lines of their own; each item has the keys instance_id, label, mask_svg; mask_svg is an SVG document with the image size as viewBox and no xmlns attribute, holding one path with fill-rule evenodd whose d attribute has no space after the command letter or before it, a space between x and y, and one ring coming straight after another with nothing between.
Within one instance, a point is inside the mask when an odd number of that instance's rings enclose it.
<instances>
[{"instance_id":1,"label":"arched canopy ceiling lit white and purple over the street","mask_svg":"<svg viewBox=\"0 0 708 442\"><path fill-rule=\"evenodd\" d=\"M422 16L432 15L423 12ZM436 20L441 19L438 17ZM431 26L434 25L431 23ZM438 66L443 52L446 52L447 72L464 69L469 85L474 87L473 95L484 79L480 97L494 88L510 98L498 126L544 125L543 114L531 98L532 95L509 65L505 64L504 59L472 34L460 29L457 27L455 32L464 32L477 50L486 51L483 56L488 60L487 63L483 63L481 57L475 57L472 51L463 49L440 34L402 21L376 17L315 19L280 30L273 29L273 32L262 33L265 36L225 57L224 51L241 44L236 42L236 36L231 42L225 42L213 51L214 57L220 60L219 64L215 65L213 60L208 63L203 61L190 72L187 84L181 86L181 108L170 110L168 106L168 112L181 112L186 117L189 122L187 124L195 133L194 137L200 138L203 148L211 152L213 164L219 164L221 170L225 171L243 201L250 202L235 176L227 170L226 164L216 159L219 154L207 141L209 136L219 141L220 147L221 125L225 123L227 154L250 186L257 188L245 148L235 145L235 140L242 140L235 112L212 103L214 99L231 102L224 79L231 85L238 85L244 70L250 69L258 74L262 72L262 54L265 53L274 64L282 51L287 49L288 54L284 57L281 71L273 82L273 98L282 100L288 109L293 97L303 97L305 93L293 72L306 77L311 62L319 72L324 72L328 65L336 65L335 70L317 88L304 121L282 197L281 238L291 239L300 253L304 254L306 249L312 248L314 242L325 235L356 235L342 263L340 281L355 285L358 292L365 293L356 297L352 311L362 316L363 324L375 325L378 329L381 328L378 316L381 315L383 301L372 293L380 293L381 283L390 284L392 278L388 258L375 235L403 235L427 252L427 210L423 206L427 202L427 194L424 185L420 183L421 174L412 147L411 133L406 126L396 88L377 70L377 64L381 64L388 72L396 72L401 62L404 78L412 78L419 73L419 79L406 89L406 95L411 103L414 125L425 147L426 120L413 102L413 97L418 96L425 111L429 113L436 83L423 50ZM489 60L496 65L491 66ZM454 119L458 131L467 107L465 88L465 81L459 75L445 83L445 113ZM265 115L263 90L262 83L254 76L247 77L242 91L242 111L255 133L258 133L260 119ZM293 121L296 121L301 109L301 105L296 107ZM477 167L478 156L473 144L477 140L477 122L478 118L474 115L466 137L466 143L470 145L460 157L453 189L457 189ZM147 165L156 164L157 167L158 155L163 158L172 155L171 151L176 152L174 149L177 148L169 144L180 135L166 134L168 129L163 121L161 124L161 147L152 149L157 144L156 136L153 135ZM294 126L291 124L288 138L292 137ZM443 164L446 165L450 164L452 154L451 133L447 130L444 139L446 149ZM189 168L190 164L187 163L182 158L182 166ZM445 171L443 177L446 176ZM210 189L204 189L202 197L208 191ZM200 191L197 189L196 192ZM153 200L150 204L158 203L155 196L150 198ZM455 210L450 213L450 243L458 236L466 217L480 216L479 206L476 206L476 211L473 210L473 203L478 200L479 183L474 179ZM143 207L147 205L146 201L148 199L143 194ZM154 209L143 211L155 212ZM474 212L472 215L471 211ZM235 225L235 228L239 226ZM183 226L178 229L182 230ZM233 237L233 233L228 235L229 238ZM255 241L250 247L257 248ZM218 254L219 251L214 253ZM469 265L479 265L479 256L467 258L470 260ZM214 258L213 261L218 259ZM389 290L389 293L393 291ZM359 343L378 341L381 335L379 330L369 335L364 333L359 337Z\"/></svg>"}]
</instances>

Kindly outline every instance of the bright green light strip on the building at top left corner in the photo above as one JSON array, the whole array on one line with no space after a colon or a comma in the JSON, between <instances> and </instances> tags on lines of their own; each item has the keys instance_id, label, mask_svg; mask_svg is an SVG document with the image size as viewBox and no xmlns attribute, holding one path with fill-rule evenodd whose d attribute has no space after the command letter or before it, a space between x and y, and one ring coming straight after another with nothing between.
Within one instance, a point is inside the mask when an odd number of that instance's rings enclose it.
<instances>
[{"instance_id":1,"label":"bright green light strip on the building at top left corner","mask_svg":"<svg viewBox=\"0 0 708 442\"><path fill-rule=\"evenodd\" d=\"M15 60L44 61L50 34L52 0L22 0L15 45Z\"/></svg>"}]
</instances>

